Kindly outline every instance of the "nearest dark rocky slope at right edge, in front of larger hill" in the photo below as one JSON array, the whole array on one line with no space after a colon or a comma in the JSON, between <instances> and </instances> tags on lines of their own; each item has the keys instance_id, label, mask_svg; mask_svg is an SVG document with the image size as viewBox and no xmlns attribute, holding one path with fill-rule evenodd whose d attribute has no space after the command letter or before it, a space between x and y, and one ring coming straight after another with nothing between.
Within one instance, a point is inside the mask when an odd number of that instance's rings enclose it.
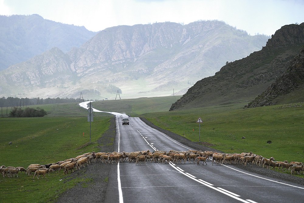
<instances>
[{"instance_id":1,"label":"nearest dark rocky slope at right edge, in front of larger hill","mask_svg":"<svg viewBox=\"0 0 304 203\"><path fill-rule=\"evenodd\" d=\"M292 59L289 68L247 108L304 102L304 47Z\"/></svg>"}]
</instances>

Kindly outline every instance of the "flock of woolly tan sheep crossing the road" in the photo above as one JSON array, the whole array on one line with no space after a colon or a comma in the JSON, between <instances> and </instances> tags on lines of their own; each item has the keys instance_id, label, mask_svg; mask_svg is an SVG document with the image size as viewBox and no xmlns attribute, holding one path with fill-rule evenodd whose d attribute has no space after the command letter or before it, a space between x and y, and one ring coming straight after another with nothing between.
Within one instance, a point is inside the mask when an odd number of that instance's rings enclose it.
<instances>
[{"instance_id":1,"label":"flock of woolly tan sheep crossing the road","mask_svg":"<svg viewBox=\"0 0 304 203\"><path fill-rule=\"evenodd\" d=\"M211 159L212 158L212 159ZM30 164L26 169L23 167L13 167L8 166L5 167L4 165L0 166L0 172L2 173L2 176L5 177L15 177L15 175L18 177L19 171L22 173L24 171L28 176L33 175L33 179L35 176L38 178L38 176L45 175L50 172L54 172L58 170L58 173L60 173L60 170L64 170L64 174L68 174L69 170L72 170L73 172L76 170L80 170L81 167L84 167L85 165L89 165L89 163L92 162L102 162L105 164L108 163L114 163L118 164L119 162L128 161L129 163L135 162L135 165L143 162L146 164L146 161L150 160L150 162L157 162L160 164L163 163L176 163L178 164L184 161L188 161L189 163L192 163L191 160L193 160L193 163L197 163L199 165L199 162L202 161L202 165L204 163L212 160L212 165L215 162L217 165L221 164L241 164L244 166L247 166L247 163L249 165L255 164L256 166L260 166L263 168L270 169L272 167L273 170L275 170L275 167L278 167L278 171L282 167L282 172L284 172L284 169L287 169L290 171L291 174L295 173L303 173L304 174L304 165L302 162L290 162L288 161L275 161L273 157L270 159L267 159L265 157L253 154L252 152L246 153L243 152L241 154L233 153L233 154L222 154L218 152L211 152L211 151L196 151L196 150L189 150L189 151L176 151L176 150L170 150L169 152L166 151L154 151L150 152L150 150L147 151L138 151L138 152L88 152L82 155L79 155L75 158L66 159L64 161L58 161L57 163L50 163L46 165L40 165L40 164ZM46 177L45 177L46 178ZM38 178L39 179L39 178Z\"/></svg>"}]
</instances>

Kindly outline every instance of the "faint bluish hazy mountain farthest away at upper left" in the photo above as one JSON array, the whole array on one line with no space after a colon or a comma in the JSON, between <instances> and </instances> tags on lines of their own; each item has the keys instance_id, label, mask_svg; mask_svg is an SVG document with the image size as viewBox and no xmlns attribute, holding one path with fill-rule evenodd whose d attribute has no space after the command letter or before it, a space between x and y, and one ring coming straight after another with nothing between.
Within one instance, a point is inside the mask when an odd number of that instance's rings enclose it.
<instances>
[{"instance_id":1,"label":"faint bluish hazy mountain farthest away at upper left","mask_svg":"<svg viewBox=\"0 0 304 203\"><path fill-rule=\"evenodd\" d=\"M80 47L96 33L74 26L30 16L0 16L0 70L59 47L67 52Z\"/></svg>"}]
</instances>

